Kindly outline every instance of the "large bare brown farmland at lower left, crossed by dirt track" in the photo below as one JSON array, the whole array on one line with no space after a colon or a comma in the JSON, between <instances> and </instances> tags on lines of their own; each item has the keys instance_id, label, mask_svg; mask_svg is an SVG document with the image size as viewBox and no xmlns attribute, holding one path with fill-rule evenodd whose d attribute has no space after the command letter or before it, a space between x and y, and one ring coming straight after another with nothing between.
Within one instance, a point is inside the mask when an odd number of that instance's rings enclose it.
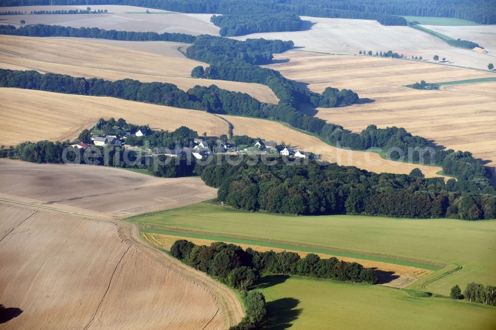
<instances>
[{"instance_id":1,"label":"large bare brown farmland at lower left, crossed by dirt track","mask_svg":"<svg viewBox=\"0 0 496 330\"><path fill-rule=\"evenodd\" d=\"M0 161L0 329L227 329L227 287L145 244L122 218L214 197L199 178ZM105 217L105 218L100 218Z\"/></svg>"}]
</instances>

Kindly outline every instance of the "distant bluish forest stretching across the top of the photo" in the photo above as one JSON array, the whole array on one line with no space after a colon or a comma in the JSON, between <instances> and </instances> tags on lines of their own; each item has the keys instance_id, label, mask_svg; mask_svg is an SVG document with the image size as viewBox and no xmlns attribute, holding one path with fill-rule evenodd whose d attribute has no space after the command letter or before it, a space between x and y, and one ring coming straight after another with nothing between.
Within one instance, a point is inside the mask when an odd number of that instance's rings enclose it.
<instances>
[{"instance_id":1,"label":"distant bluish forest stretching across the top of the photo","mask_svg":"<svg viewBox=\"0 0 496 330\"><path fill-rule=\"evenodd\" d=\"M3 6L87 5L87 0L3 0ZM298 15L382 20L399 23L391 16L455 17L480 24L496 23L496 7L486 0L94 0L91 4L122 4L189 13L222 14L214 19L225 35L267 31L293 31Z\"/></svg>"}]
</instances>

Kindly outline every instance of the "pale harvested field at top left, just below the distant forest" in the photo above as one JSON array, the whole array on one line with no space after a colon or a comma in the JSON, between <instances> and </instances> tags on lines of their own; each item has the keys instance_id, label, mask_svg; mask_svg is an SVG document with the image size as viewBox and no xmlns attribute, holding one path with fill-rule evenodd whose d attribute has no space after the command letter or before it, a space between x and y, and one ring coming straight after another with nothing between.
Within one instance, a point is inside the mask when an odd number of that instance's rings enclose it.
<instances>
[{"instance_id":1,"label":"pale harvested field at top left, just below the distant forest","mask_svg":"<svg viewBox=\"0 0 496 330\"><path fill-rule=\"evenodd\" d=\"M2 7L1 11L26 11L25 15L0 16L1 24L19 25L24 19L27 24L51 24L72 27L98 27L106 30L157 32L157 33L186 33L191 35L219 35L219 28L204 18L204 14L183 14L173 11L151 9L145 7L121 5L94 5L91 10L105 10L106 14L62 14L62 15L30 15L32 10L68 10L86 9L87 5L79 6L20 6ZM150 14L146 13L146 10Z\"/></svg>"}]
</instances>

